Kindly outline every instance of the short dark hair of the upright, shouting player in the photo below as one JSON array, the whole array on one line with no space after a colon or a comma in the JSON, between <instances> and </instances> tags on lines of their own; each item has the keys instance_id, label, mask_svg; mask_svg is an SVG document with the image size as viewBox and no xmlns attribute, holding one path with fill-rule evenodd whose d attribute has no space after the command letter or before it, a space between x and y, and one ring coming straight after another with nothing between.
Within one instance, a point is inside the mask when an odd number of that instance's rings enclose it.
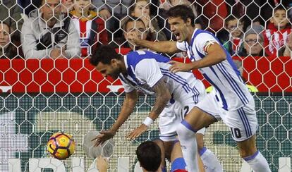
<instances>
[{"instance_id":1,"label":"short dark hair of the upright, shouting player","mask_svg":"<svg viewBox=\"0 0 292 172\"><path fill-rule=\"evenodd\" d=\"M177 18L180 17L183 21L187 21L188 18L191 20L191 25L195 26L195 14L193 10L189 6L178 5L171 7L169 11L166 12L166 15L169 18Z\"/></svg>"}]
</instances>

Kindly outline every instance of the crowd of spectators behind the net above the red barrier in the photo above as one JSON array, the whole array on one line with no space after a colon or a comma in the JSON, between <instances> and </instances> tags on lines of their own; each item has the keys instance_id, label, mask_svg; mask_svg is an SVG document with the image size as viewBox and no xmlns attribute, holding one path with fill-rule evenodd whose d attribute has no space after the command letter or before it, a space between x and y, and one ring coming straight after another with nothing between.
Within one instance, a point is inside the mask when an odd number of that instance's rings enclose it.
<instances>
[{"instance_id":1,"label":"crowd of spectators behind the net above the red barrier","mask_svg":"<svg viewBox=\"0 0 292 172\"><path fill-rule=\"evenodd\" d=\"M85 58L100 44L130 47L128 20L140 20L141 39L175 40L166 11L178 4L233 56L292 54L292 1L2 0L0 58Z\"/></svg>"}]
</instances>

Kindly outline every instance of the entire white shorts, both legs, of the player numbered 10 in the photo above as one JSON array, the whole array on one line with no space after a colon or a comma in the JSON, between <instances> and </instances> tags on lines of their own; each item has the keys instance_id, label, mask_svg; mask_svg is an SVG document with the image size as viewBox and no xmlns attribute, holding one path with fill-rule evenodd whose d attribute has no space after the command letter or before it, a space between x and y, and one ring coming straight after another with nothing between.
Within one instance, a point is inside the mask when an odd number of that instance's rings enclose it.
<instances>
[{"instance_id":1,"label":"entire white shorts, both legs, of the player numbered 10","mask_svg":"<svg viewBox=\"0 0 292 172\"><path fill-rule=\"evenodd\" d=\"M212 91L195 106L216 118L217 121L222 119L229 127L233 140L236 142L247 140L257 131L257 116L253 99L240 109L226 111L221 107L216 92Z\"/></svg>"}]
</instances>

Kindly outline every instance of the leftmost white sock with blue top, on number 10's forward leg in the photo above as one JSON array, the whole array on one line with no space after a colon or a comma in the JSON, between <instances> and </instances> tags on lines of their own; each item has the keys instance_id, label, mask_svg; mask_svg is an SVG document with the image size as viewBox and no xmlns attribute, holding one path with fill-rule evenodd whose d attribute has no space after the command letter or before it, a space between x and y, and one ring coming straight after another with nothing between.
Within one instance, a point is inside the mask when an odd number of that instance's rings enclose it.
<instances>
[{"instance_id":1,"label":"leftmost white sock with blue top, on number 10's forward leg","mask_svg":"<svg viewBox=\"0 0 292 172\"><path fill-rule=\"evenodd\" d=\"M183 159L185 159L186 169L188 172L198 172L197 165L197 140L195 137L195 130L192 129L190 124L182 121L176 133L178 133L178 140L181 142L181 150L183 152Z\"/></svg>"}]
</instances>

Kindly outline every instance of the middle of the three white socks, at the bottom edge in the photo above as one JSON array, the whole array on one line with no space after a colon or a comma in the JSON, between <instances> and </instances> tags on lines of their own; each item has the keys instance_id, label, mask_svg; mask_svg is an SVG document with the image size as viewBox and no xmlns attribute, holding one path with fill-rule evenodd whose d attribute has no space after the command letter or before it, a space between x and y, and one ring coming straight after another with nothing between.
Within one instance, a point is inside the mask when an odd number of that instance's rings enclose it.
<instances>
[{"instance_id":1,"label":"middle of the three white socks, at the bottom edge","mask_svg":"<svg viewBox=\"0 0 292 172\"><path fill-rule=\"evenodd\" d=\"M205 172L223 172L223 167L219 163L217 156L206 147L199 150Z\"/></svg>"}]
</instances>

